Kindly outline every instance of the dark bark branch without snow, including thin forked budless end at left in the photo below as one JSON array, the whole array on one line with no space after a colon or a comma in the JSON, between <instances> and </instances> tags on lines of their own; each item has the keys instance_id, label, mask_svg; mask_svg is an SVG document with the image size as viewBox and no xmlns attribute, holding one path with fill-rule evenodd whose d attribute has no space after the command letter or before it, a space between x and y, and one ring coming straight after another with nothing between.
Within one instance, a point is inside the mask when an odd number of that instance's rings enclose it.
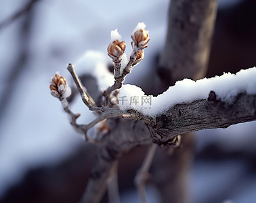
<instances>
[{"instance_id":1,"label":"dark bark branch without snow, including thin forked budless end at left","mask_svg":"<svg viewBox=\"0 0 256 203\"><path fill-rule=\"evenodd\" d=\"M74 77L74 81L79 82L79 79ZM218 82L221 83L221 80L215 80L215 83ZM85 94L81 85L78 85L78 87L81 95ZM96 122L105 118L127 115L126 117L133 120L141 120L149 127L152 127L155 131L152 134L152 141L158 143L158 145L166 145L173 141L177 135L190 131L223 128L240 122L256 120L256 95L239 93L234 98L232 104L217 100L216 98L215 93L211 91L208 100L198 99L188 104L176 104L175 106L170 106L167 111L162 112L156 117L144 115L133 109L122 111L105 106L89 106L90 110L104 112L104 114L93 121L92 124L85 125L85 127L87 129L87 127L95 125ZM86 102L89 104L89 100L86 100Z\"/></svg>"}]
</instances>

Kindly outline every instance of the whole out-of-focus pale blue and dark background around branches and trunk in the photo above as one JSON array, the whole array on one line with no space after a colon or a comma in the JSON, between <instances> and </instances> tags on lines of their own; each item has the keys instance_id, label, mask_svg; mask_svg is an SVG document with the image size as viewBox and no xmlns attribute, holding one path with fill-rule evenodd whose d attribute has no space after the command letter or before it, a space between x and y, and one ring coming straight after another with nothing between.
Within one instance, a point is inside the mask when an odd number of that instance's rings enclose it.
<instances>
[{"instance_id":1,"label":"whole out-of-focus pale blue and dark background around branches and trunk","mask_svg":"<svg viewBox=\"0 0 256 203\"><path fill-rule=\"evenodd\" d=\"M256 1L218 4L207 77L256 65ZM129 53L133 28L145 22L149 47L126 83L150 92L146 83L163 50L168 6L168 0L1 1L0 202L81 198L96 149L73 131L60 101L50 95L51 76L60 71L72 84L66 65L76 64L87 51L98 51L100 60L110 64L110 30L119 29ZM87 59L87 65L98 60ZM79 122L93 119L79 97L73 103L73 112L82 114ZM191 202L255 202L255 133L255 122L196 133L188 181ZM121 202L139 202L133 177L145 152L134 149L121 159ZM150 184L147 189L150 202L159 202L157 189ZM102 202L107 202L106 196Z\"/></svg>"}]
</instances>

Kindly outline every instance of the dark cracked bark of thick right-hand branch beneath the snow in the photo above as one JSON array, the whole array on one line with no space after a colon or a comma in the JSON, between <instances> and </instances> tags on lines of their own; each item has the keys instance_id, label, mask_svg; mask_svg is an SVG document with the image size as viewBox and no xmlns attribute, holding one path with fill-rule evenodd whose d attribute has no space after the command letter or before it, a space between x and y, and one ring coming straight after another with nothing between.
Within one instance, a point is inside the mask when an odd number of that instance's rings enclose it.
<instances>
[{"instance_id":1,"label":"dark cracked bark of thick right-hand branch beneath the snow","mask_svg":"<svg viewBox=\"0 0 256 203\"><path fill-rule=\"evenodd\" d=\"M227 128L240 122L256 120L256 95L240 93L232 104L210 98L190 104L176 104L164 114L156 116L154 129L157 137L153 137L153 141L165 144L169 139L190 131Z\"/></svg>"}]
</instances>

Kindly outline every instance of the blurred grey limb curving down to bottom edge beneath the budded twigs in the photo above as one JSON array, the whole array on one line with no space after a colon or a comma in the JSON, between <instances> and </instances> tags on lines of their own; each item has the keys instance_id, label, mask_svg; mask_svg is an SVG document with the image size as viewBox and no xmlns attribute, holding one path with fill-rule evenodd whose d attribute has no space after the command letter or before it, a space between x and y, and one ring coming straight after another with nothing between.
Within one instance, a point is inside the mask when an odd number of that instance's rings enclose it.
<instances>
[{"instance_id":1,"label":"blurred grey limb curving down to bottom edge beneath the budded twigs","mask_svg":"<svg viewBox=\"0 0 256 203\"><path fill-rule=\"evenodd\" d=\"M152 143L150 135L154 131L143 122L114 118L110 118L106 122L112 130L101 140L102 145L81 200L83 203L100 202L115 164L123 153L136 146Z\"/></svg>"}]
</instances>

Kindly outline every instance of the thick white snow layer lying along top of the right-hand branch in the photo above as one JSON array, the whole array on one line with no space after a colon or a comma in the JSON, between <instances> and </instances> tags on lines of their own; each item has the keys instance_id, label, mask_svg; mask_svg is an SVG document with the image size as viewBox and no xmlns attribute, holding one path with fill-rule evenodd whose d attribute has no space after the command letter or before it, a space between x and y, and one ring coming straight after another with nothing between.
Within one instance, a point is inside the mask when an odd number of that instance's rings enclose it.
<instances>
[{"instance_id":1,"label":"thick white snow layer lying along top of the right-hand branch","mask_svg":"<svg viewBox=\"0 0 256 203\"><path fill-rule=\"evenodd\" d=\"M169 87L167 91L157 97L145 95L140 87L123 85L118 95L119 107L121 110L131 108L146 115L156 116L175 104L207 99L210 91L215 91L217 99L231 104L238 93L256 94L255 78L256 68L254 67L240 70L236 74L224 73L222 76L203 78L198 81L184 79L177 81L174 86ZM146 103L145 99L147 101L150 99L151 102Z\"/></svg>"}]
</instances>

